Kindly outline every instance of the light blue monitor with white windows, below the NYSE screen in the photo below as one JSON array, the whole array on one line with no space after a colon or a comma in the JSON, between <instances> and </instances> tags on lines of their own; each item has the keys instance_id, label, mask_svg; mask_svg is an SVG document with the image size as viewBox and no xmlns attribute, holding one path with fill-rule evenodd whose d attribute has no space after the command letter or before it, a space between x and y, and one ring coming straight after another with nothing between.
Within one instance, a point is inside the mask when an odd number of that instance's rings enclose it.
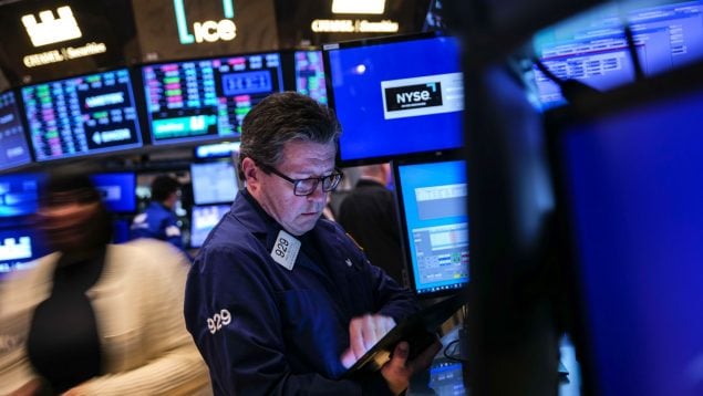
<instances>
[{"instance_id":1,"label":"light blue monitor with white windows, below the NYSE screen","mask_svg":"<svg viewBox=\"0 0 703 396\"><path fill-rule=\"evenodd\" d=\"M468 282L466 161L452 157L393 161L401 240L420 296L456 292Z\"/></svg>"}]
</instances>

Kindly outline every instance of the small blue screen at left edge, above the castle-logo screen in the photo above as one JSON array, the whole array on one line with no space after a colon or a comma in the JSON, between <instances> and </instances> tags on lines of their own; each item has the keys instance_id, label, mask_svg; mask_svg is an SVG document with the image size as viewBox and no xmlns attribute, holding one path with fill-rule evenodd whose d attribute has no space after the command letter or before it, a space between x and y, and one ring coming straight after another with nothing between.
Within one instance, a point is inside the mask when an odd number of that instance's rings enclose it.
<instances>
[{"instance_id":1,"label":"small blue screen at left edge, above the castle-logo screen","mask_svg":"<svg viewBox=\"0 0 703 396\"><path fill-rule=\"evenodd\" d=\"M42 174L0 176L0 217L32 215L39 207Z\"/></svg>"}]
</instances>

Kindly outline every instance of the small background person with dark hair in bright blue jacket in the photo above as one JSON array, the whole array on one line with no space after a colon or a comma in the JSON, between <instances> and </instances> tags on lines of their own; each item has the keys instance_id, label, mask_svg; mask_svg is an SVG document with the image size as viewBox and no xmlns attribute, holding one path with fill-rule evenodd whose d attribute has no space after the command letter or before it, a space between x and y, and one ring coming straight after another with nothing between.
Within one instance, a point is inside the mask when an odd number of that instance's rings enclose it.
<instances>
[{"instance_id":1,"label":"small background person with dark hair in bright blue jacket","mask_svg":"<svg viewBox=\"0 0 703 396\"><path fill-rule=\"evenodd\" d=\"M132 239L153 238L184 250L178 217L174 212L180 197L180 183L162 175L152 181L152 200L132 221Z\"/></svg>"}]
</instances>

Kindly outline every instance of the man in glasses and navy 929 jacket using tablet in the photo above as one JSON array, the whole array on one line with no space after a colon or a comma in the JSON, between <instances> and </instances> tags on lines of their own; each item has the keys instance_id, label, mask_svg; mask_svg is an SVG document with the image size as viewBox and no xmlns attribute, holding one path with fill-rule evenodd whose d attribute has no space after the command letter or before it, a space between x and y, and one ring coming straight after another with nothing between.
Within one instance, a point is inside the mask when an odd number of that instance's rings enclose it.
<instances>
[{"instance_id":1,"label":"man in glasses and navy 929 jacket using tablet","mask_svg":"<svg viewBox=\"0 0 703 396\"><path fill-rule=\"evenodd\" d=\"M410 361L402 342L380 371L342 379L417 303L320 218L342 177L340 129L332 111L291 92L245 118L238 165L247 187L186 284L186 325L216 394L400 394L440 347Z\"/></svg>"}]
</instances>

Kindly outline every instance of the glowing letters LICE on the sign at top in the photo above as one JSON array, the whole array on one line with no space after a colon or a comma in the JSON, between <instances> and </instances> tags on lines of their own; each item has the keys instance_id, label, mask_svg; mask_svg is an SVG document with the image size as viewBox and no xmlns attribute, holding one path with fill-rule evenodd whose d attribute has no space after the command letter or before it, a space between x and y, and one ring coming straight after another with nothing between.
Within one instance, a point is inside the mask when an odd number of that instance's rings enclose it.
<instances>
[{"instance_id":1,"label":"glowing letters LICE on the sign at top","mask_svg":"<svg viewBox=\"0 0 703 396\"><path fill-rule=\"evenodd\" d=\"M182 44L203 42L230 41L237 37L237 25L231 20L235 18L235 4L232 0L223 0L225 18L219 21L193 22L193 33L188 30L184 0L174 0L176 11L176 24L178 25L178 40Z\"/></svg>"}]
</instances>

